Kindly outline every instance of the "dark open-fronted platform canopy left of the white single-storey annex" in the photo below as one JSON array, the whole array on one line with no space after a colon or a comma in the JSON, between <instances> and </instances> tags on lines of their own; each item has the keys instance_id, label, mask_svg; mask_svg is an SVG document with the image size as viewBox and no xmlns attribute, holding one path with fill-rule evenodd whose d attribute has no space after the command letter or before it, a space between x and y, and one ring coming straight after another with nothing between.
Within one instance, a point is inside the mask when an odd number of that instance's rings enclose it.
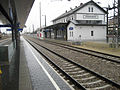
<instances>
[{"instance_id":1,"label":"dark open-fronted platform canopy left of the white single-storey annex","mask_svg":"<svg viewBox=\"0 0 120 90\"><path fill-rule=\"evenodd\" d=\"M67 23L56 23L44 29L45 38L67 40Z\"/></svg>"}]
</instances>

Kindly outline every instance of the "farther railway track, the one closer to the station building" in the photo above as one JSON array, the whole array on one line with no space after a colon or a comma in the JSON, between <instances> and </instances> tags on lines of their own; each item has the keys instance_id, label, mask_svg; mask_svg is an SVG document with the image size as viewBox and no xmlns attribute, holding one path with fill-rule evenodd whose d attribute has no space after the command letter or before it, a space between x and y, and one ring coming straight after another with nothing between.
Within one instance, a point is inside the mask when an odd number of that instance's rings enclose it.
<instances>
[{"instance_id":1,"label":"farther railway track, the one closer to the station building","mask_svg":"<svg viewBox=\"0 0 120 90\"><path fill-rule=\"evenodd\" d=\"M42 40L42 41L44 41L44 40ZM120 56L115 56L115 55L111 55L111 54L107 54L107 53L102 53L102 52L98 52L98 51L84 49L84 48L78 48L78 47L74 47L71 45L58 43L58 42L54 42L54 41L49 41L49 40L46 40L44 42L52 44L52 45L56 45L59 47L63 47L66 49L70 49L70 50L73 50L73 51L76 51L79 53L83 53L83 54L87 54L87 55L94 56L97 58L101 58L101 59L104 59L106 61L111 61L111 62L115 62L115 63L120 64Z\"/></svg>"}]
</instances>

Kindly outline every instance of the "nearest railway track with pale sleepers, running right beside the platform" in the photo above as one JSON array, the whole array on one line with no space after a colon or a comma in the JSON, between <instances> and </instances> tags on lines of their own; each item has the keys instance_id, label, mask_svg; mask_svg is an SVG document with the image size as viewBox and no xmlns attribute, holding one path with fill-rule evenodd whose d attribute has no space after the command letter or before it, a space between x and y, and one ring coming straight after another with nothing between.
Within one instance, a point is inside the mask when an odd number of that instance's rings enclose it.
<instances>
[{"instance_id":1,"label":"nearest railway track with pale sleepers, running right beside the platform","mask_svg":"<svg viewBox=\"0 0 120 90\"><path fill-rule=\"evenodd\" d=\"M77 89L82 90L119 90L120 85L109 80L108 78L97 74L88 68L75 63L74 61L59 55L58 53L41 46L35 41L27 40L40 54L42 54L49 62L53 64L60 72L62 72L65 77L77 86ZM38 47L42 47L47 52L54 54L53 57L57 56L59 59L51 60L46 54L41 52ZM47 54L49 55L49 54Z\"/></svg>"}]
</instances>

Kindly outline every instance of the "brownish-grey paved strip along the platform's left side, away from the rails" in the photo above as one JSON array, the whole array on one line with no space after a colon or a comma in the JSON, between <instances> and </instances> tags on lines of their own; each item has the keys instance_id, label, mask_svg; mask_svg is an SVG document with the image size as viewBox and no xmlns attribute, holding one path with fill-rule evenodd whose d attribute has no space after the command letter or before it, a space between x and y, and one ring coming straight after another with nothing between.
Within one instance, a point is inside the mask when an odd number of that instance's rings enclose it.
<instances>
[{"instance_id":1,"label":"brownish-grey paved strip along the platform's left side, away from the rails","mask_svg":"<svg viewBox=\"0 0 120 90\"><path fill-rule=\"evenodd\" d=\"M32 90L32 83L27 66L23 41L20 43L19 90Z\"/></svg>"}]
</instances>

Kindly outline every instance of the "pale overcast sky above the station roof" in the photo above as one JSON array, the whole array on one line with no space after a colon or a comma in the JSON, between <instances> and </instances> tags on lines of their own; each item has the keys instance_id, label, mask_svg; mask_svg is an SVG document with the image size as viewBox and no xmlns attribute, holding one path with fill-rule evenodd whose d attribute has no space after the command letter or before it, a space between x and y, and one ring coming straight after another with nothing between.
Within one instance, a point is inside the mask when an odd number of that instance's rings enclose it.
<instances>
[{"instance_id":1,"label":"pale overcast sky above the station roof","mask_svg":"<svg viewBox=\"0 0 120 90\"><path fill-rule=\"evenodd\" d=\"M52 24L52 20L56 17L63 14L66 10L69 11L70 7L75 8L75 6L79 6L80 3L86 3L90 0L35 0L29 17L26 22L27 28L25 31L32 31L32 27L34 25L34 29L40 27L40 2L41 2L41 25L45 25L45 17L47 26ZM100 2L101 7L107 7L108 4L113 6L114 0L94 0L95 2Z\"/></svg>"}]
</instances>

